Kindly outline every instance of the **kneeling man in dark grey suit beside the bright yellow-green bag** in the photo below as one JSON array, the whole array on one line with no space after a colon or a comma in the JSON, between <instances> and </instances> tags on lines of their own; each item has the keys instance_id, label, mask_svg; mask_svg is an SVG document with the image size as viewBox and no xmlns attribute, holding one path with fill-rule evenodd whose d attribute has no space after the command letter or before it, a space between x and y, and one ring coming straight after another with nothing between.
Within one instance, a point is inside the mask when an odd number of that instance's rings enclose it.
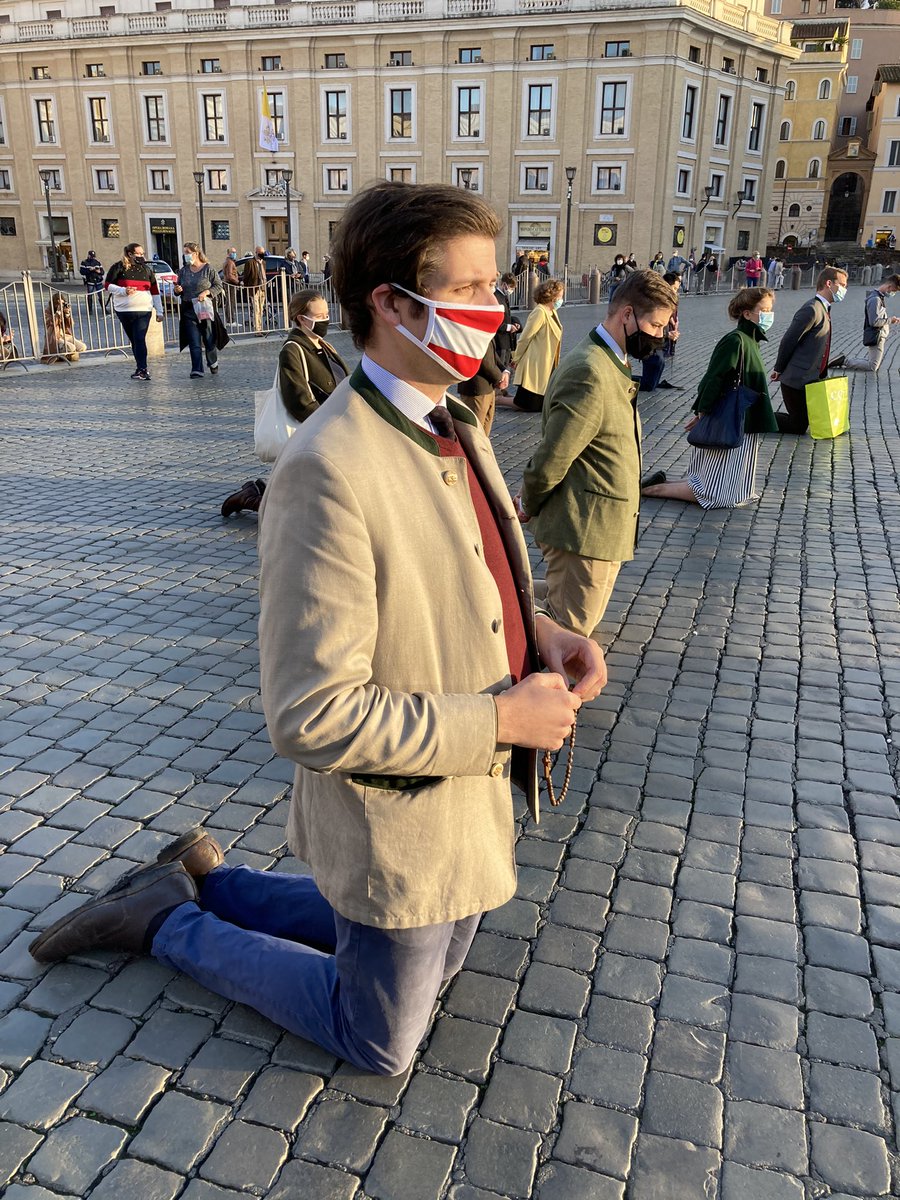
<instances>
[{"instance_id":1,"label":"kneeling man in dark grey suit beside the bright yellow-green bag","mask_svg":"<svg viewBox=\"0 0 900 1200\"><path fill-rule=\"evenodd\" d=\"M809 428L806 413L806 384L824 379L828 367L840 367L844 358L828 360L832 348L833 304L839 304L847 294L847 272L840 266L826 266L816 280L816 294L800 305L787 326L778 348L772 379L781 383L781 397L786 413L775 413L779 432L805 433Z\"/></svg>"}]
</instances>

